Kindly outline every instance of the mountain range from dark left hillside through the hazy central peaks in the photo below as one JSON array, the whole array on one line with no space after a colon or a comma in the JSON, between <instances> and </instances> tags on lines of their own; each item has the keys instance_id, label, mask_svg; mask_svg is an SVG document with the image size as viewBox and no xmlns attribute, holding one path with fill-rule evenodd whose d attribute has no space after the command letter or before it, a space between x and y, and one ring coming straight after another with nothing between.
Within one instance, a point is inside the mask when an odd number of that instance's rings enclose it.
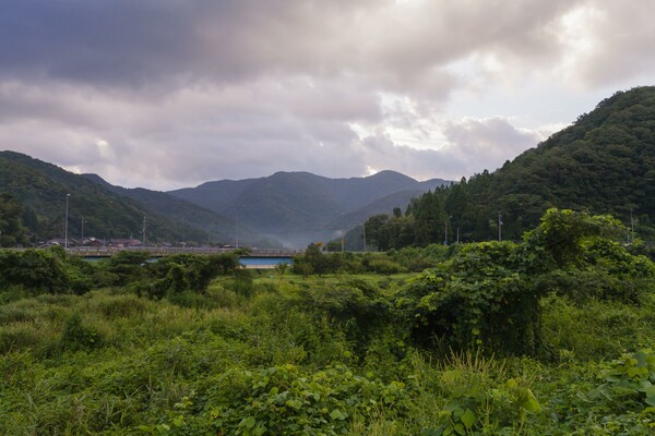
<instances>
[{"instance_id":1,"label":"mountain range from dark left hillside through the hazy central peaks","mask_svg":"<svg viewBox=\"0 0 655 436\"><path fill-rule=\"evenodd\" d=\"M449 183L418 182L393 171L352 179L277 172L159 192L116 186L97 174L0 152L0 193L17 198L31 241L62 238L68 214L71 238L142 239L145 221L150 242L302 247Z\"/></svg>"}]
</instances>

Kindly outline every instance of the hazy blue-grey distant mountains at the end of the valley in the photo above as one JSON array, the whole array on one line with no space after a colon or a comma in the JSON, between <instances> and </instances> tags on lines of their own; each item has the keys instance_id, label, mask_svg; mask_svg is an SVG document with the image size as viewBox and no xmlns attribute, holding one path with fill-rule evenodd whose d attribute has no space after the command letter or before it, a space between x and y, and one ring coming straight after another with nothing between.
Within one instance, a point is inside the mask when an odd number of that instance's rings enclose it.
<instances>
[{"instance_id":1,"label":"hazy blue-grey distant mountains at the end of the valley","mask_svg":"<svg viewBox=\"0 0 655 436\"><path fill-rule=\"evenodd\" d=\"M261 179L207 182L169 193L239 219L289 245L305 246L450 183L441 179L418 182L394 171L350 179L277 172Z\"/></svg>"}]
</instances>

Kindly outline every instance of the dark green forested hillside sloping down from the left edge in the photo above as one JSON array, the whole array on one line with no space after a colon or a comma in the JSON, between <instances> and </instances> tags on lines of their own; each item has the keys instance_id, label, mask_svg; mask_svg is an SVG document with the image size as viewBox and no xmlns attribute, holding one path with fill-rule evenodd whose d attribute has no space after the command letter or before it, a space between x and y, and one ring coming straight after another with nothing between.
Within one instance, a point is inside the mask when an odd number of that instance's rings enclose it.
<instances>
[{"instance_id":1,"label":"dark green forested hillside sloping down from the left edge","mask_svg":"<svg viewBox=\"0 0 655 436\"><path fill-rule=\"evenodd\" d=\"M146 242L203 242L216 240L225 234L207 232L181 215L166 214L164 208L154 207L153 202L147 205L147 202L119 195L112 192L106 182L91 181L14 152L0 152L0 208L5 210L8 205L13 204L14 209L20 209L23 225L21 231L12 231L13 237L10 239L9 226L4 226L4 211L0 211L4 228L4 235L0 235L2 245L63 238L67 194L70 194L70 238L79 238L84 232L86 237L100 239L142 239L144 217ZM180 202L174 197L171 199ZM191 204L187 204L186 207L191 210L200 209ZM209 210L205 213L212 214Z\"/></svg>"}]
</instances>

